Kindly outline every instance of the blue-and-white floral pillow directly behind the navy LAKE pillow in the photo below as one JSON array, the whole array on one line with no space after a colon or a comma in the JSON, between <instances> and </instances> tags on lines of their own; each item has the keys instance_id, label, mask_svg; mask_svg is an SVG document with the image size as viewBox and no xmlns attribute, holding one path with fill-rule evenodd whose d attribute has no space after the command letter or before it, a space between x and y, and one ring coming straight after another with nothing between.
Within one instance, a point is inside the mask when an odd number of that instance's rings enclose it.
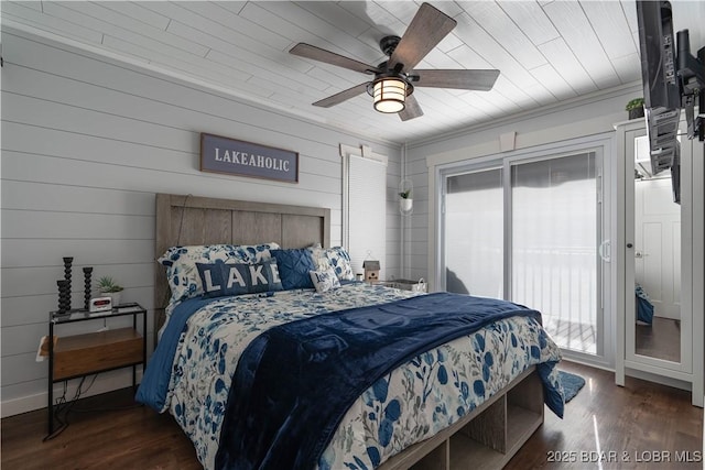
<instances>
[{"instance_id":1,"label":"blue-and-white floral pillow directly behind the navy LAKE pillow","mask_svg":"<svg viewBox=\"0 0 705 470\"><path fill-rule=\"evenodd\" d=\"M210 244L172 247L156 260L166 267L166 280L172 291L171 303L204 294L196 263L258 263L271 258L270 250L279 244Z\"/></svg>"}]
</instances>

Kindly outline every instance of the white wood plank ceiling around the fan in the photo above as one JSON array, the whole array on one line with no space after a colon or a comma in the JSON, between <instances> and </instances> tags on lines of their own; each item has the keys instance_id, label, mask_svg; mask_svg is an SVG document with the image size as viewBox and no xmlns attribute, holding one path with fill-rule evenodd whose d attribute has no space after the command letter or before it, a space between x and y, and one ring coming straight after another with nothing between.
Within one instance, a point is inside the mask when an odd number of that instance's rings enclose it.
<instances>
[{"instance_id":1,"label":"white wood plank ceiling around the fan","mask_svg":"<svg viewBox=\"0 0 705 470\"><path fill-rule=\"evenodd\" d=\"M402 122L361 95L312 102L369 76L289 54L299 42L367 64L402 35L420 1L6 1L4 28L88 45L362 135L414 142L639 83L634 2L433 1L458 25L417 68L497 68L491 91L416 88L424 116ZM676 29L703 44L705 2L674 1ZM698 20L699 18L699 20Z\"/></svg>"}]
</instances>

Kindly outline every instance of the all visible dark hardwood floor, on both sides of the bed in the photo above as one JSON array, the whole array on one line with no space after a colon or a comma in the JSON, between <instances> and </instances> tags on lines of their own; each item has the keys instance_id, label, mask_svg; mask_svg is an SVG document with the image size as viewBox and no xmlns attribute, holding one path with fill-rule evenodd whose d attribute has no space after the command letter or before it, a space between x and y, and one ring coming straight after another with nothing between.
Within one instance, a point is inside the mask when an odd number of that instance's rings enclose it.
<instances>
[{"instance_id":1,"label":"all visible dark hardwood floor, on both sides of the bed","mask_svg":"<svg viewBox=\"0 0 705 470\"><path fill-rule=\"evenodd\" d=\"M676 461L702 457L703 411L691 406L688 392L631 378L622 389L610 372L565 361L561 369L585 378L585 387L564 419L546 409L544 425L506 469L703 468ZM45 442L45 411L2 419L2 469L200 468L173 418L132 406L131 396L124 390L79 402L76 408L120 409L72 413L70 425Z\"/></svg>"}]
</instances>

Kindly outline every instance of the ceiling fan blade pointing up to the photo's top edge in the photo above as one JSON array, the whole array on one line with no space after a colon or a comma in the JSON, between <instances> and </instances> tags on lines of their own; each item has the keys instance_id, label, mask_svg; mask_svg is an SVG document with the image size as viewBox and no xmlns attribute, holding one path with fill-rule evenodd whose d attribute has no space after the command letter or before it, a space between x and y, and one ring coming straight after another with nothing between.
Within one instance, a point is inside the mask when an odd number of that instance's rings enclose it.
<instances>
[{"instance_id":1,"label":"ceiling fan blade pointing up to the photo's top edge","mask_svg":"<svg viewBox=\"0 0 705 470\"><path fill-rule=\"evenodd\" d=\"M389 59L389 68L403 64L402 72L413 69L453 29L457 22L423 3Z\"/></svg>"}]
</instances>

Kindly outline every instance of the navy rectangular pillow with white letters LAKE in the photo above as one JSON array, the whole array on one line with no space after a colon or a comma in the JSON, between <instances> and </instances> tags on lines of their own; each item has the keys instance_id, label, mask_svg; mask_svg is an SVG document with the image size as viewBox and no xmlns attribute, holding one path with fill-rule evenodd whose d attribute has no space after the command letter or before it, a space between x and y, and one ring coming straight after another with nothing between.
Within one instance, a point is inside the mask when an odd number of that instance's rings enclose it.
<instances>
[{"instance_id":1,"label":"navy rectangular pillow with white letters LAKE","mask_svg":"<svg viewBox=\"0 0 705 470\"><path fill-rule=\"evenodd\" d=\"M276 260L273 258L252 264L228 264L217 260L215 263L208 264L196 263L196 266L205 295L208 297L282 289Z\"/></svg>"}]
</instances>

